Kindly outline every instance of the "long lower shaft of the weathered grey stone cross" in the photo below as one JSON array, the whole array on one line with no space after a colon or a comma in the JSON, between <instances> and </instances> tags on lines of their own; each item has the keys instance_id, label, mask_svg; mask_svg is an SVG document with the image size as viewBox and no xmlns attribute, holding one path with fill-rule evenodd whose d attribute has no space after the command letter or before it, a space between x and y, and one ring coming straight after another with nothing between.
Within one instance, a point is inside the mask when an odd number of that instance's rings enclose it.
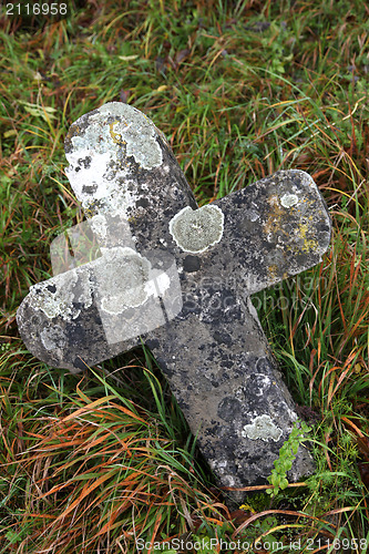
<instances>
[{"instance_id":1,"label":"long lower shaft of the weathered grey stone cross","mask_svg":"<svg viewBox=\"0 0 369 554\"><path fill-rule=\"evenodd\" d=\"M193 298L193 312L183 309L173 340L164 327L146 343L218 485L227 489L226 503L235 507L247 493L229 488L268 484L298 417L250 300L216 288L208 285L196 299L203 315L212 309L212 318L194 325ZM214 314L214 298L225 297L227 310L219 302ZM287 479L295 482L312 472L312 458L300 444Z\"/></svg>"}]
</instances>

